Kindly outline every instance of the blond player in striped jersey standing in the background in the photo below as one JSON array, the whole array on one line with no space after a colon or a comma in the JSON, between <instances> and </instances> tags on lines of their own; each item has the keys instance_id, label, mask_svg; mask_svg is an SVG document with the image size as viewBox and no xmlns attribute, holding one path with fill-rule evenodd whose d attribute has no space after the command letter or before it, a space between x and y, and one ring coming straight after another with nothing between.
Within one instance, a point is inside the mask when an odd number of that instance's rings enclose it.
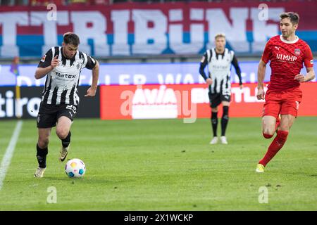
<instances>
[{"instance_id":1,"label":"blond player in striped jersey standing in the background","mask_svg":"<svg viewBox=\"0 0 317 225\"><path fill-rule=\"evenodd\" d=\"M237 63L237 58L233 51L225 48L225 34L216 34L216 48L206 51L201 58L199 73L209 84L209 101L211 106L211 125L213 128L213 139L211 144L218 142L218 105L223 105L223 116L221 117L221 136L220 141L228 144L225 137L225 130L229 120L229 105L231 96L230 71L231 65L235 67L235 72L239 77L240 89L242 89L241 70ZM208 65L209 76L207 77L204 68Z\"/></svg>"}]
</instances>

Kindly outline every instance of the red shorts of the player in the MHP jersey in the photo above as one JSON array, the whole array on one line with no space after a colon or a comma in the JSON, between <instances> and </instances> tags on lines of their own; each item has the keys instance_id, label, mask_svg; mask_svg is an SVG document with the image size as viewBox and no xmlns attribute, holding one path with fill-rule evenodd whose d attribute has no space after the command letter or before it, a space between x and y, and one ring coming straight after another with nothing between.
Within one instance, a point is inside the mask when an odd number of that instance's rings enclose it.
<instances>
[{"instance_id":1,"label":"red shorts of the player in the MHP jersey","mask_svg":"<svg viewBox=\"0 0 317 225\"><path fill-rule=\"evenodd\" d=\"M266 103L263 105L263 116L293 115L297 117L302 91L299 87L287 91L266 91Z\"/></svg>"}]
</instances>

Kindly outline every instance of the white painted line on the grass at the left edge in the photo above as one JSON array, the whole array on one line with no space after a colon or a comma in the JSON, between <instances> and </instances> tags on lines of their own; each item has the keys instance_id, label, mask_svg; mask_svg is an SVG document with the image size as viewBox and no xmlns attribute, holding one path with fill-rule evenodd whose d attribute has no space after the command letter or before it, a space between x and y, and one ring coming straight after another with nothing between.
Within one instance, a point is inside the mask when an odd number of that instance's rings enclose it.
<instances>
[{"instance_id":1,"label":"white painted line on the grass at the left edge","mask_svg":"<svg viewBox=\"0 0 317 225\"><path fill-rule=\"evenodd\" d=\"M0 191L2 186L4 185L4 178L6 177L6 171L11 163L11 158L13 156L15 144L18 141L21 128L22 128L22 121L19 120L15 126L10 143L8 145L8 148L6 148L6 153L4 154L4 158L2 159L2 162L0 165Z\"/></svg>"}]
</instances>

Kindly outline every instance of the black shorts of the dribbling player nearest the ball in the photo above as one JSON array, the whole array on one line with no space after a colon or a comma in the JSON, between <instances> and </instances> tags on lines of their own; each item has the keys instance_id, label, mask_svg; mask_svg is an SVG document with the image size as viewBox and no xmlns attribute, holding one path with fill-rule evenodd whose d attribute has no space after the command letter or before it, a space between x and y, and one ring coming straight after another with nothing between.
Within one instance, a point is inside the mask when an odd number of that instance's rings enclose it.
<instances>
[{"instance_id":1,"label":"black shorts of the dribbling player nearest the ball","mask_svg":"<svg viewBox=\"0 0 317 225\"><path fill-rule=\"evenodd\" d=\"M58 118L62 116L68 117L71 121L73 121L76 113L76 105L49 105L42 102L41 105L39 105L39 114L37 115L37 127L55 127Z\"/></svg>"}]
</instances>

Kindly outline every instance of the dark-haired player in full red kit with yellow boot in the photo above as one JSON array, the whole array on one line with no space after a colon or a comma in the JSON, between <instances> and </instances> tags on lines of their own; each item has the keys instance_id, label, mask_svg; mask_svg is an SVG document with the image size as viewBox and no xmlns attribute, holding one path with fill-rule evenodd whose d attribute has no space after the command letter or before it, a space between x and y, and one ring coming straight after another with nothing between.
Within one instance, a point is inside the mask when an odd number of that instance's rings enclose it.
<instances>
[{"instance_id":1,"label":"dark-haired player in full red kit with yellow boot","mask_svg":"<svg viewBox=\"0 0 317 225\"><path fill-rule=\"evenodd\" d=\"M266 43L258 68L258 99L265 99L263 105L262 131L266 139L275 139L268 147L266 155L259 161L256 172L264 172L278 150L284 145L290 127L297 117L299 103L302 101L300 82L309 82L315 77L313 71L313 54L309 45L295 35L299 23L297 13L280 14L280 31L282 35L272 37ZM271 61L271 80L264 95L263 79L266 63ZM306 75L300 74L306 67ZM264 98L265 96L265 98Z\"/></svg>"}]
</instances>

